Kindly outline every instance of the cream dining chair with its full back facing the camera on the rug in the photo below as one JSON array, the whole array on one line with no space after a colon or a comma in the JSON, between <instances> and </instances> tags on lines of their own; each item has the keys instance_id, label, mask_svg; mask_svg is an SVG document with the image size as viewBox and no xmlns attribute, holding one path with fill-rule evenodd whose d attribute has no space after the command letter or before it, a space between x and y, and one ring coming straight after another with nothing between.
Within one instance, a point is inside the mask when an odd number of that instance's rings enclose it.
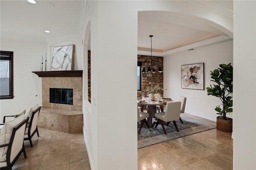
<instances>
[{"instance_id":1,"label":"cream dining chair with its full back facing the camera on the rug","mask_svg":"<svg viewBox=\"0 0 256 170\"><path fill-rule=\"evenodd\" d=\"M155 114L155 117L158 118L155 128L159 125L159 123L161 123L164 134L167 134L164 128L164 122L167 122L166 126L168 126L170 121L172 121L176 130L179 132L176 121L180 118L180 106L180 101L166 103L166 111Z\"/></svg>"}]
</instances>

